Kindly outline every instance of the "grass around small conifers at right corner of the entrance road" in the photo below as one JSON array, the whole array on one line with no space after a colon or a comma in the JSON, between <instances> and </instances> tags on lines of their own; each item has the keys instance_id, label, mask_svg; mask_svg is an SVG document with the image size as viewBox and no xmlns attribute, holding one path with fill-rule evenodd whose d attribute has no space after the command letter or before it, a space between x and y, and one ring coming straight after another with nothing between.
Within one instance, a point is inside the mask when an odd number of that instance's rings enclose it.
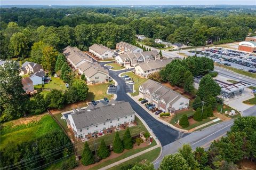
<instances>
[{"instance_id":1,"label":"grass around small conifers at right corner of the entrance road","mask_svg":"<svg viewBox=\"0 0 256 170\"><path fill-rule=\"evenodd\" d=\"M195 113L195 111L193 109L189 109L187 111L182 111L182 112L177 114L177 117L176 117L176 115L174 115L174 117L172 118L170 123L175 126L175 120L178 121L178 119L180 119L182 117L182 115L187 114L188 117L189 117L189 116L194 115L194 113ZM200 125L203 125L203 124L205 124L207 122L210 122L211 120L214 120L214 119L210 119L210 118L203 119L201 122L196 122L193 125L189 125L188 127L185 127L185 128L182 128L182 129L190 130L192 128L195 128L197 126L200 126Z\"/></svg>"}]
</instances>

